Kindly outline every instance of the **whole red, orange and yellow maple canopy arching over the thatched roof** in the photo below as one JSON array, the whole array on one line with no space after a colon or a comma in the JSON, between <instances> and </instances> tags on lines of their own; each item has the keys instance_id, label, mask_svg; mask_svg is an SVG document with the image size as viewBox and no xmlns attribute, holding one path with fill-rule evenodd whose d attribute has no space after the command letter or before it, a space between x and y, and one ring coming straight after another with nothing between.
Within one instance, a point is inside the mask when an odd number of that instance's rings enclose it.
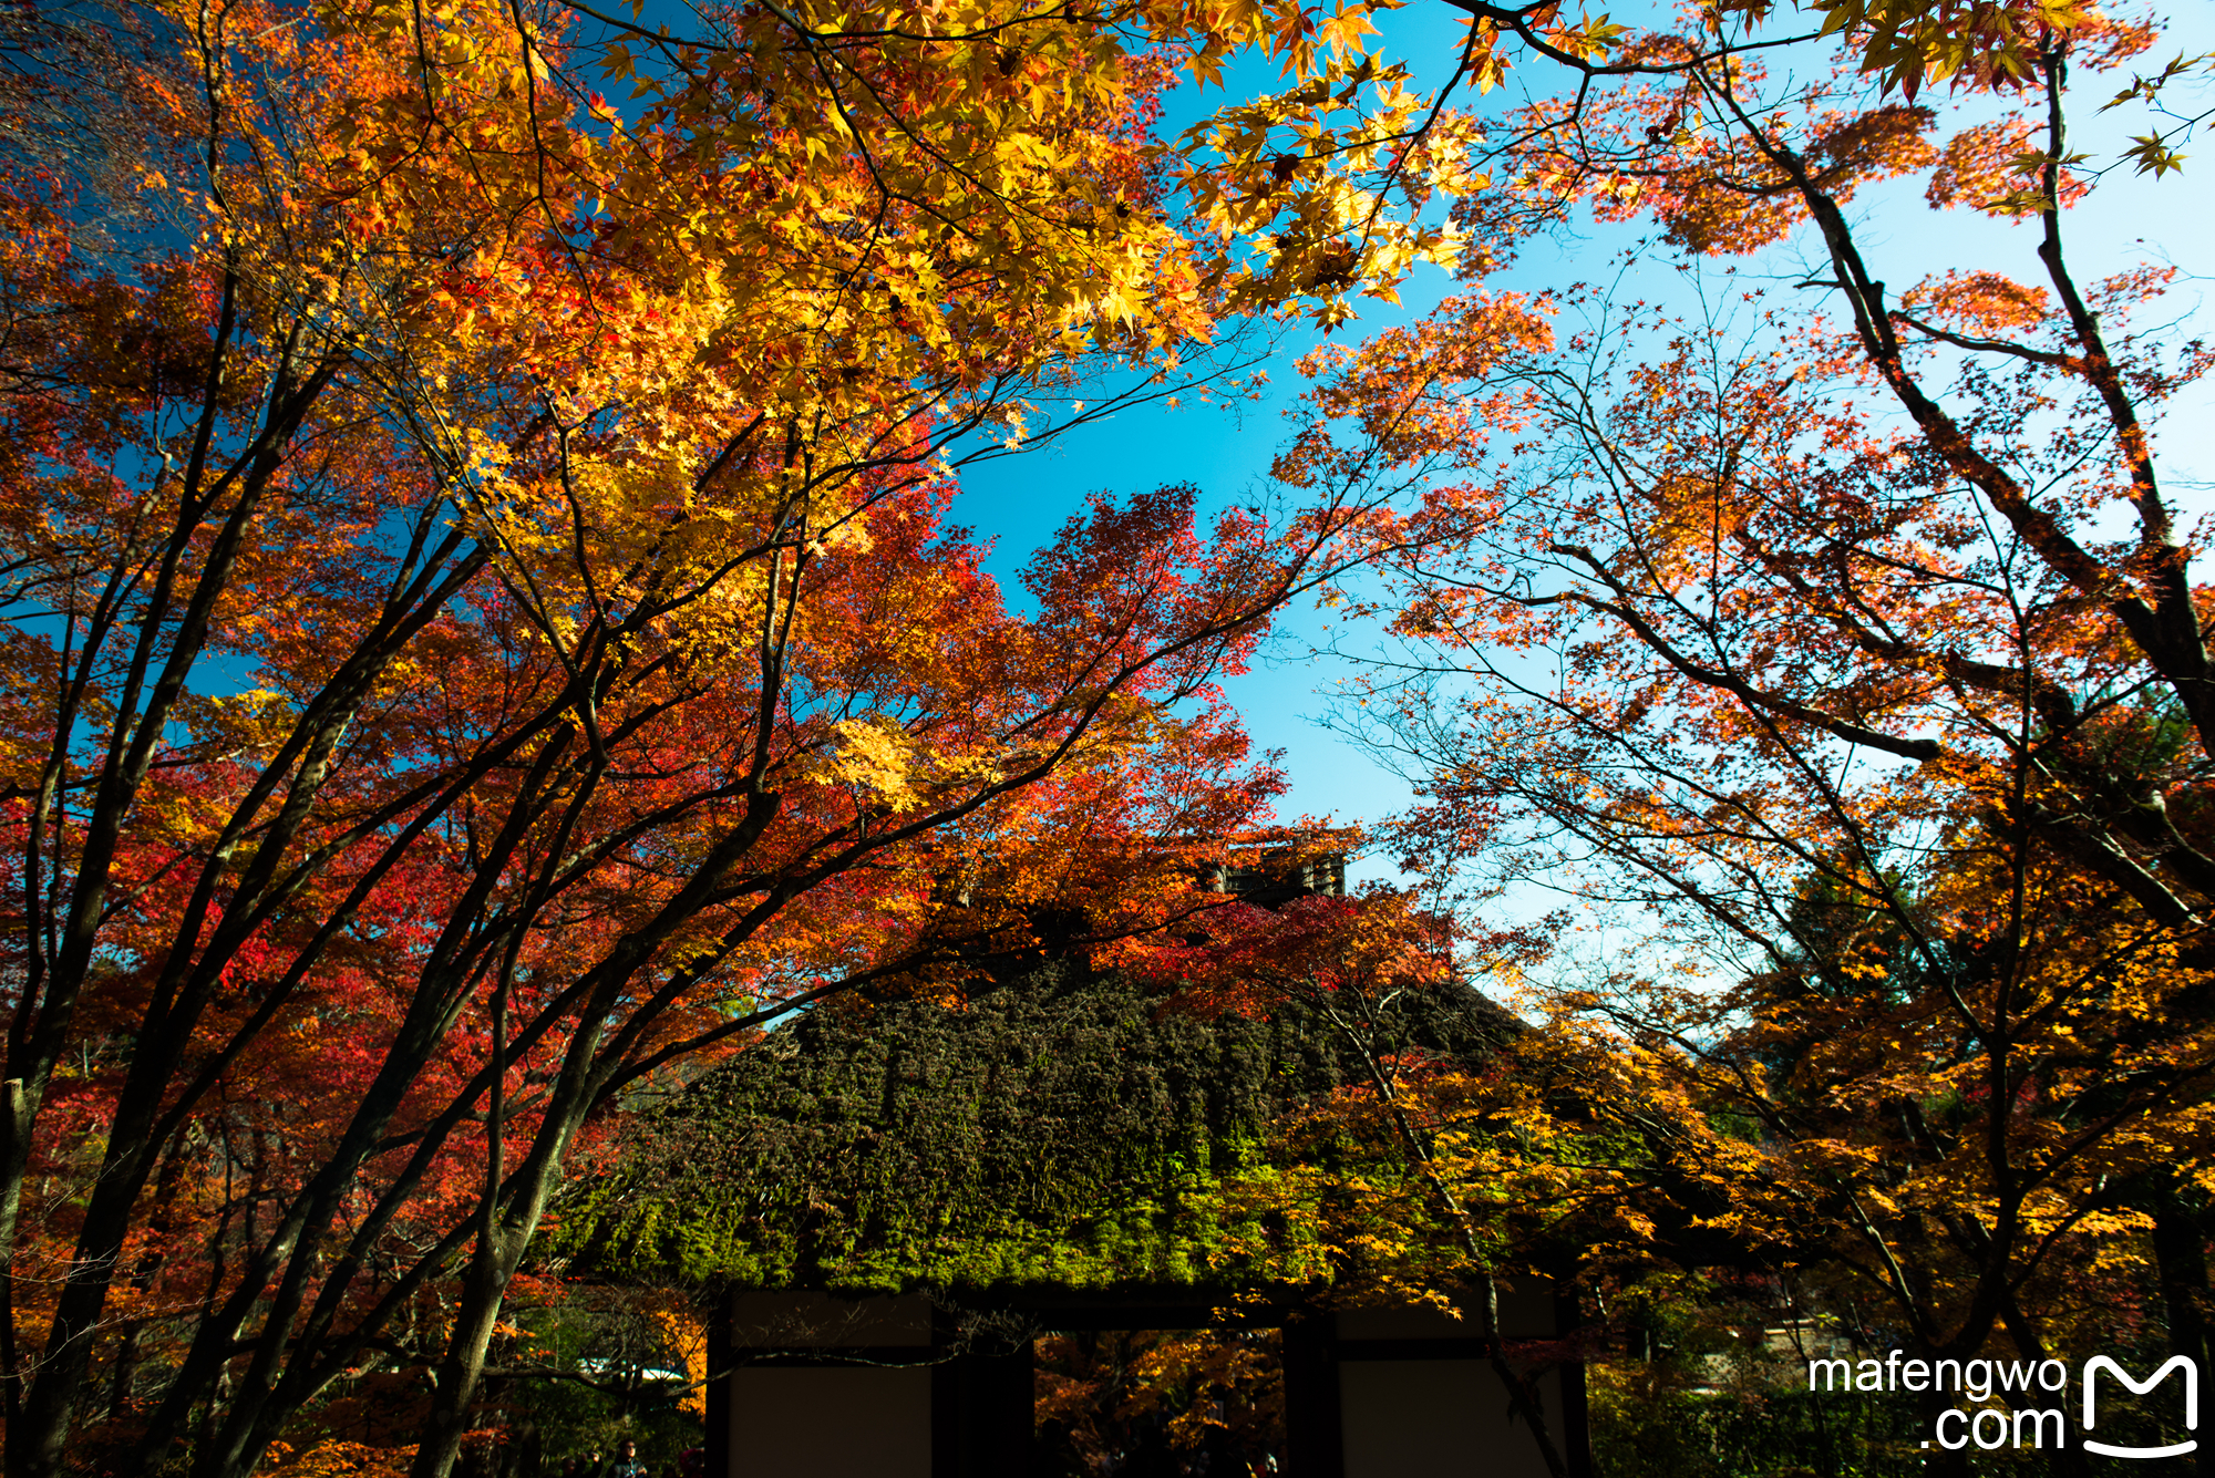
<instances>
[{"instance_id":1,"label":"whole red, orange and yellow maple canopy arching over the thatched roof","mask_svg":"<svg viewBox=\"0 0 2215 1478\"><path fill-rule=\"evenodd\" d=\"M2208 354L2071 221L2182 166L2204 58L2131 71L2155 24L2058 0L1455 0L1422 95L1382 9L0 20L11 1478L241 1478L374 1365L430 1381L443 1476L571 1170L704 1062L744 1100L808 1002L959 998L1070 918L1181 1007L1435 967L1393 909L1192 925L1282 792L1220 679L1356 566L1418 653L1371 693L1431 777L1409 854L1730 940L1721 989L1570 998L1608 1031L1568 1055L1759 1124L1683 1139L1750 1235L1821 1208L1947 1350L2184 1246L2215 686L2157 434ZM1236 62L1278 91L1156 137ZM2087 80L2153 119L2113 159ZM2020 221L2022 268L1881 266L1856 212L1907 179ZM1488 285L1593 219L1701 308ZM1794 243L1790 283L1725 270ZM1249 394L1271 321L1422 261L1471 290L1318 354L1271 507L1072 498L988 573L966 465ZM1464 929L1508 969L1546 934ZM1460 1089L1364 1071L1482 1261ZM1096 1175L1201 1144L1161 1133Z\"/></svg>"}]
</instances>

